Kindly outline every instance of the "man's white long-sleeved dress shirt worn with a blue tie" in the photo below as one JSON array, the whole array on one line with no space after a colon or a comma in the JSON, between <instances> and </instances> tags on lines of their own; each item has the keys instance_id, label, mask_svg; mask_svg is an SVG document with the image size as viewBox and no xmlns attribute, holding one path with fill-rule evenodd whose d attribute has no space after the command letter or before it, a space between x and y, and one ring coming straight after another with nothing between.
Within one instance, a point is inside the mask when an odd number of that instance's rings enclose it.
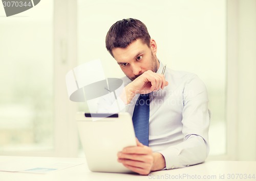
<instances>
[{"instance_id":1,"label":"man's white long-sleeved dress shirt worn with a blue tie","mask_svg":"<svg viewBox=\"0 0 256 181\"><path fill-rule=\"evenodd\" d=\"M160 62L157 73L161 73ZM166 67L165 80L169 85L150 93L149 145L165 158L166 169L182 168L204 162L209 153L208 96L204 83L193 73L174 71ZM131 83L123 77L124 86ZM121 111L133 115L137 94L129 105L101 100L99 112L118 112L110 105L121 105Z\"/></svg>"}]
</instances>

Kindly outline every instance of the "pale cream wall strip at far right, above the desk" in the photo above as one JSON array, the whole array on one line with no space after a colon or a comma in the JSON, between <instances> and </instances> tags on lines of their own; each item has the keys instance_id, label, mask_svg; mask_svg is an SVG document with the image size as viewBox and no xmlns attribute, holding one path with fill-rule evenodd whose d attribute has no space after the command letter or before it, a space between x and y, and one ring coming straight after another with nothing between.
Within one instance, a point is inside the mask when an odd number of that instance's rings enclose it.
<instances>
[{"instance_id":1,"label":"pale cream wall strip at far right, above the desk","mask_svg":"<svg viewBox=\"0 0 256 181\"><path fill-rule=\"evenodd\" d=\"M256 160L256 1L228 0L228 150Z\"/></svg>"}]
</instances>

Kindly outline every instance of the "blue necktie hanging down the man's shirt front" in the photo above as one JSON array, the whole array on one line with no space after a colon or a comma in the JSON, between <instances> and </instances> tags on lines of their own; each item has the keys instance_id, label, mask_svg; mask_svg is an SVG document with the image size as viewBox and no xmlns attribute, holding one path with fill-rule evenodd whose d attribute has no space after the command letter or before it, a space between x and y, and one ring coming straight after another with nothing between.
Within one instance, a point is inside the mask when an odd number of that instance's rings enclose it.
<instances>
[{"instance_id":1,"label":"blue necktie hanging down the man's shirt front","mask_svg":"<svg viewBox=\"0 0 256 181\"><path fill-rule=\"evenodd\" d=\"M148 94L140 94L134 112L133 126L138 140L148 146L148 125L150 120L150 97Z\"/></svg>"}]
</instances>

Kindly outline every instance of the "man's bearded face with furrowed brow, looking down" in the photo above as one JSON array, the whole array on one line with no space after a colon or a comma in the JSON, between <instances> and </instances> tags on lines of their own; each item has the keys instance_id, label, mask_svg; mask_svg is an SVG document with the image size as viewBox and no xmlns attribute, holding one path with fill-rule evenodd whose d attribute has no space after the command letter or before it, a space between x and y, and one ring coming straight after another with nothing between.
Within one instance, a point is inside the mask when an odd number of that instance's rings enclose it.
<instances>
[{"instance_id":1,"label":"man's bearded face with furrowed brow, looking down","mask_svg":"<svg viewBox=\"0 0 256 181\"><path fill-rule=\"evenodd\" d=\"M126 48L113 48L112 53L124 74L132 81L147 70L157 72L159 68L157 45L153 39L151 47L138 39Z\"/></svg>"}]
</instances>

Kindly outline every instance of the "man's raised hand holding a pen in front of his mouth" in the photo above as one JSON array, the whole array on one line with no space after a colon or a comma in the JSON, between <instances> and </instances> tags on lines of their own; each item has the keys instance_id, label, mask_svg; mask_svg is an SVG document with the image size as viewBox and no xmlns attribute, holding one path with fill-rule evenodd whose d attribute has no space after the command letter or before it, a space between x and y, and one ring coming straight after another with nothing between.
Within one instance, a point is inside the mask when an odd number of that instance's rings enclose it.
<instances>
[{"instance_id":1,"label":"man's raised hand holding a pen in front of his mouth","mask_svg":"<svg viewBox=\"0 0 256 181\"><path fill-rule=\"evenodd\" d=\"M159 89L164 89L167 85L168 82L165 80L163 74L147 70L125 87L126 100L124 102L126 101L126 104L130 104L136 94L151 93Z\"/></svg>"}]
</instances>

